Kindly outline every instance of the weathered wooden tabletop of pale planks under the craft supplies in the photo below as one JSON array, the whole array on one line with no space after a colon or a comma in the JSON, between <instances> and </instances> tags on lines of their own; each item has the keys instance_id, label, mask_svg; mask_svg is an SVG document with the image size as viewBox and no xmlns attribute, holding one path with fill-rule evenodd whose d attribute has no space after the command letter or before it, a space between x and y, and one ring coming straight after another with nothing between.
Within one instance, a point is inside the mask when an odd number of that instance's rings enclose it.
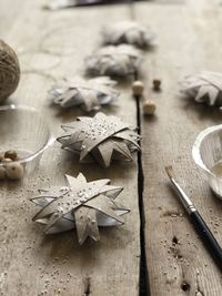
<instances>
[{"instance_id":1,"label":"weathered wooden tabletop of pale planks under the craft supplies","mask_svg":"<svg viewBox=\"0 0 222 296\"><path fill-rule=\"evenodd\" d=\"M10 102L32 105L60 124L81 115L58 112L47 91L61 76L83 74L83 59L100 45L102 24L134 19L157 33L157 47L144 53L145 96L157 115L143 118L121 83L119 106L105 110L137 125L140 114L142 153L130 164L109 170L80 165L54 144L33 177L0 186L0 292L33 295L222 295L222 278L169 187L164 166L173 164L181 184L222 244L222 203L191 157L198 133L221 123L221 112L181 100L178 81L199 70L222 69L222 7L218 0L160 0L94 8L42 10L44 0L1 0L0 35L18 52L21 82ZM132 13L133 12L133 13ZM161 78L162 91L152 91ZM88 180L109 177L124 186L122 203L131 208L122 227L101 229L101 241L79 246L75 234L44 236L31 222L32 191L63 184L64 173ZM143 177L143 178L142 178Z\"/></svg>"}]
</instances>

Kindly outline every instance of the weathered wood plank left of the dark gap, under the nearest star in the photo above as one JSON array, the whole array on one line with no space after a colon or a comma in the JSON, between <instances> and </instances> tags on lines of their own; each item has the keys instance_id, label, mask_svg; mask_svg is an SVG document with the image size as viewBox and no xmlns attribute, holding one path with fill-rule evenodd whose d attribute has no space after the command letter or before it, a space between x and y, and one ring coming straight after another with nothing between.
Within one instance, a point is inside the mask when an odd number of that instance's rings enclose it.
<instances>
[{"instance_id":1,"label":"weathered wood plank left of the dark gap, under the nearest star","mask_svg":"<svg viewBox=\"0 0 222 296\"><path fill-rule=\"evenodd\" d=\"M14 103L36 106L58 135L60 124L71 121L80 111L58 112L47 102L47 91L53 79L82 74L83 59L99 47L99 29L107 21L129 18L125 6L91 9L41 10L40 2L23 1L17 27L4 37L19 52L21 83L12 96ZM120 115L137 124L135 104L129 85L119 106L105 113ZM80 247L75 235L65 233L44 237L42 228L31 222L36 213L27 198L32 190L49 184L64 184L63 174L89 180L109 177L113 184L124 186L122 203L131 208L125 224L119 228L101 231L101 241ZM137 155L134 163L114 164L110 170L95 165L79 165L56 143L43 155L34 176L13 186L0 188L0 289L2 295L138 295L140 235L138 212Z\"/></svg>"}]
</instances>

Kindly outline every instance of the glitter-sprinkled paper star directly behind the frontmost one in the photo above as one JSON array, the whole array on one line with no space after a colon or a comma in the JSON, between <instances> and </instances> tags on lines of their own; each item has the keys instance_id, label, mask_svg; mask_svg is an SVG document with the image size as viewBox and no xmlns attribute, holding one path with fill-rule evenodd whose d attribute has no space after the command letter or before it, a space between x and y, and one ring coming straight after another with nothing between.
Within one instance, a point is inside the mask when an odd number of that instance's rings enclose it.
<instances>
[{"instance_id":1,"label":"glitter-sprinkled paper star directly behind the frontmost one","mask_svg":"<svg viewBox=\"0 0 222 296\"><path fill-rule=\"evenodd\" d=\"M139 150L139 135L117 116L98 113L94 118L78 118L62 125L64 134L57 140L62 149L80 154L80 162L97 161L108 167L112 160L132 161Z\"/></svg>"}]
</instances>

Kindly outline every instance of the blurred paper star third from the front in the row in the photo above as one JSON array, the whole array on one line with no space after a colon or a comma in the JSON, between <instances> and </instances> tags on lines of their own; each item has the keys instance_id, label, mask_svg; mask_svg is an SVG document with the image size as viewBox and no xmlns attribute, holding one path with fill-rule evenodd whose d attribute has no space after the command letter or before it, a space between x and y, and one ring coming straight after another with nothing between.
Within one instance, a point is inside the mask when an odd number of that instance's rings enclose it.
<instances>
[{"instance_id":1,"label":"blurred paper star third from the front in the row","mask_svg":"<svg viewBox=\"0 0 222 296\"><path fill-rule=\"evenodd\" d=\"M61 80L49 91L50 100L62 108L80 105L90 112L112 103L118 98L119 93L113 89L115 84L109 76Z\"/></svg>"}]
</instances>

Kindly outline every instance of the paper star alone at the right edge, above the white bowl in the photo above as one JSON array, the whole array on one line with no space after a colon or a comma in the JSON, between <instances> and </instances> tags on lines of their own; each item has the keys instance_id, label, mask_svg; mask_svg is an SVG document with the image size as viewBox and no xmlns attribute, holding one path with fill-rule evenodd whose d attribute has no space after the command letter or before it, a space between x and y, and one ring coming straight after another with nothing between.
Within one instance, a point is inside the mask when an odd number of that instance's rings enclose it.
<instances>
[{"instance_id":1,"label":"paper star alone at the right edge, above the white bowl","mask_svg":"<svg viewBox=\"0 0 222 296\"><path fill-rule=\"evenodd\" d=\"M196 102L222 106L222 73L203 71L181 82L181 92Z\"/></svg>"}]
</instances>

